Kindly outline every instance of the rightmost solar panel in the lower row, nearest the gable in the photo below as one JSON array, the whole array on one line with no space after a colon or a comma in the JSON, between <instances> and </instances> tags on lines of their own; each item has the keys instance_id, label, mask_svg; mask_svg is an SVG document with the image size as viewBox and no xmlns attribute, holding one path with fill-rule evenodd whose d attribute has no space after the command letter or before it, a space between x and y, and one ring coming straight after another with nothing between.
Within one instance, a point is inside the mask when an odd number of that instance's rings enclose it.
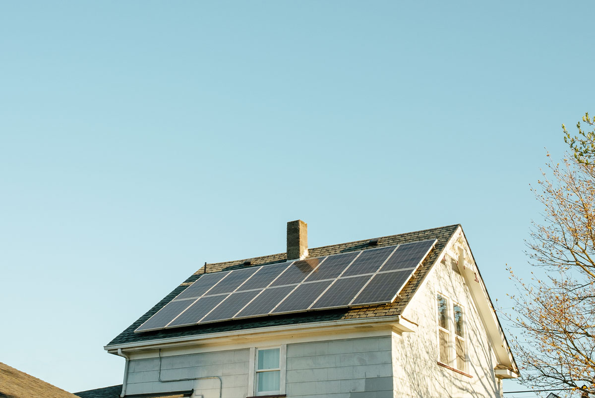
<instances>
[{"instance_id":1,"label":"rightmost solar panel in the lower row, nearest the gable","mask_svg":"<svg viewBox=\"0 0 595 398\"><path fill-rule=\"evenodd\" d=\"M409 280L413 269L401 271L382 272L372 277L364 290L351 303L351 305L390 303Z\"/></svg>"}]
</instances>

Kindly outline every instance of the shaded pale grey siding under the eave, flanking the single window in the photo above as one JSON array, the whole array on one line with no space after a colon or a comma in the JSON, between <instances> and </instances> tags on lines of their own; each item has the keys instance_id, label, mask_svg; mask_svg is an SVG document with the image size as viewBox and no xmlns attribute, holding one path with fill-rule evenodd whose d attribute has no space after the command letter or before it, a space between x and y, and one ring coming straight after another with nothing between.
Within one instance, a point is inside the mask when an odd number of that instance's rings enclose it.
<instances>
[{"instance_id":1,"label":"shaded pale grey siding under the eave, flanking the single window","mask_svg":"<svg viewBox=\"0 0 595 398\"><path fill-rule=\"evenodd\" d=\"M286 393L292 398L392 398L390 336L287 344ZM162 380L219 376L223 398L248 391L249 349L164 356ZM219 396L218 380L158 380L159 358L130 361L127 394L195 389L205 398Z\"/></svg>"}]
</instances>

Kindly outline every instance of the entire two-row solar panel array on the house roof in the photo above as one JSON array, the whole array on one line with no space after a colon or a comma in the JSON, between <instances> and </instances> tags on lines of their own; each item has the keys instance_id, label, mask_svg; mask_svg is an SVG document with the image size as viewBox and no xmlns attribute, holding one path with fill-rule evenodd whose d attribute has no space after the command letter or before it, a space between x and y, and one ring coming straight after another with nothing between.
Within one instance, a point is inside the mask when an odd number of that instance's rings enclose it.
<instances>
[{"instance_id":1,"label":"entire two-row solar panel array on the house roof","mask_svg":"<svg viewBox=\"0 0 595 398\"><path fill-rule=\"evenodd\" d=\"M390 303L436 240L202 275L135 332Z\"/></svg>"}]
</instances>

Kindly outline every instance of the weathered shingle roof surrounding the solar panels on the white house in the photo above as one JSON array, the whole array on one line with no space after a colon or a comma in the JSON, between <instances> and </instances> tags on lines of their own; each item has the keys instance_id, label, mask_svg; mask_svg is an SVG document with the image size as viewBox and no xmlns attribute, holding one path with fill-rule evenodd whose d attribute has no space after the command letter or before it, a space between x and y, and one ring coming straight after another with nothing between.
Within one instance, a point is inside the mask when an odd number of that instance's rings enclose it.
<instances>
[{"instance_id":1,"label":"weathered shingle roof surrounding the solar panels on the white house","mask_svg":"<svg viewBox=\"0 0 595 398\"><path fill-rule=\"evenodd\" d=\"M141 341L168 339L171 337L195 336L206 333L216 333L231 330L242 330L250 328L267 327L274 325L290 325L306 322L331 321L337 319L355 319L355 318L369 318L371 316L395 316L400 315L405 305L409 302L413 294L417 291L419 283L423 280L425 274L430 270L431 265L436 262L440 252L446 246L446 243L455 233L459 224L447 225L446 227L431 228L428 230L414 231L409 233L384 236L379 238L378 245L369 246L369 239L357 240L355 242L340 243L339 245L330 245L322 247L314 247L308 249L309 257L327 256L337 253L354 252L358 250L365 250L371 247L393 246L408 242L418 242L427 239L437 239L436 246L425 258L422 266L419 268L417 275L409 280L405 288L400 293L400 297L388 305L374 305L360 308L343 308L333 309L327 311L311 311L303 314L289 314L289 315L275 315L255 319L242 319L226 322L218 322L214 324L197 325L192 327L174 328L170 330L156 330L142 333L134 333L147 319L151 318L159 309L164 307L174 297L180 294L186 287L190 286L206 271L218 272L227 271L231 269L254 267L255 265L275 264L277 262L284 262L287 259L286 253L277 253L274 255L261 256L252 259L250 265L245 265L244 259L237 261L218 262L214 264L205 264L194 274L190 275L180 286L176 287L170 294L165 296L159 303L151 308L145 315L141 316L126 330L118 334L115 339L109 342L109 346L115 346L125 343L136 343Z\"/></svg>"}]
</instances>

